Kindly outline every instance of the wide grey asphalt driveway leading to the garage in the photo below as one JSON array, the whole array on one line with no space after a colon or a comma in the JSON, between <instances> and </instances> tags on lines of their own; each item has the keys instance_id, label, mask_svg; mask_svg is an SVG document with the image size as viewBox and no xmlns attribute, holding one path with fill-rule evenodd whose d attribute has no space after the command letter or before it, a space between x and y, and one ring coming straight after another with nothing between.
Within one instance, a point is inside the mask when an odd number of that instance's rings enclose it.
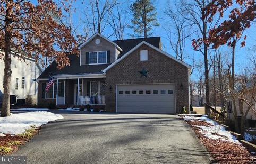
<instances>
[{"instance_id":1,"label":"wide grey asphalt driveway leading to the garage","mask_svg":"<svg viewBox=\"0 0 256 164\"><path fill-rule=\"evenodd\" d=\"M193 130L175 115L84 114L42 126L13 155L28 163L210 163Z\"/></svg>"}]
</instances>

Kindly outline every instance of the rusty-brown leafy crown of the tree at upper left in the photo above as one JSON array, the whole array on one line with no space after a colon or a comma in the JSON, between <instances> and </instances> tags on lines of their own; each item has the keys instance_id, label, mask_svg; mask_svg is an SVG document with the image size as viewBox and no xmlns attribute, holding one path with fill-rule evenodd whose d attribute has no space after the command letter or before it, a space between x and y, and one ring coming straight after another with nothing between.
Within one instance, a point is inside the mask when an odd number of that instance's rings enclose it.
<instances>
[{"instance_id":1,"label":"rusty-brown leafy crown of the tree at upper left","mask_svg":"<svg viewBox=\"0 0 256 164\"><path fill-rule=\"evenodd\" d=\"M76 50L76 40L71 29L57 21L62 10L69 10L69 1L61 1L61 7L54 1L0 1L0 48L7 48L6 31L11 48L25 56L44 62L44 57L55 59L58 68L69 65L69 54ZM6 22L8 20L8 22ZM0 55L3 58L3 54Z\"/></svg>"}]
</instances>

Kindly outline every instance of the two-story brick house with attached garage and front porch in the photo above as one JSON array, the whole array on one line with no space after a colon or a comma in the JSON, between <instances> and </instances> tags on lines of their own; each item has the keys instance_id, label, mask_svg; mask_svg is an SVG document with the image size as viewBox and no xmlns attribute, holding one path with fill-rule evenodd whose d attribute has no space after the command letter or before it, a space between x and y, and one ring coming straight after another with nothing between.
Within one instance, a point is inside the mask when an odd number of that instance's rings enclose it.
<instances>
[{"instance_id":1,"label":"two-story brick house with attached garage and front porch","mask_svg":"<svg viewBox=\"0 0 256 164\"><path fill-rule=\"evenodd\" d=\"M111 41L95 34L38 77L38 104L97 106L110 112L180 113L189 109L191 66L161 50L160 37ZM49 76L55 83L45 93ZM57 92L58 91L58 92Z\"/></svg>"}]
</instances>

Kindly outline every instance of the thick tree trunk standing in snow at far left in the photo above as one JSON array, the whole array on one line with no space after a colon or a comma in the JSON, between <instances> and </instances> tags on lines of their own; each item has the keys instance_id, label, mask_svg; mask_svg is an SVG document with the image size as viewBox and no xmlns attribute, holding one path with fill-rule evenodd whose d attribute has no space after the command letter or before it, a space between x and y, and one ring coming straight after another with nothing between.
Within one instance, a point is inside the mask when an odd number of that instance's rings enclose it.
<instances>
[{"instance_id":1,"label":"thick tree trunk standing in snow at far left","mask_svg":"<svg viewBox=\"0 0 256 164\"><path fill-rule=\"evenodd\" d=\"M7 7L8 8L8 7ZM8 16L11 8L7 9L6 15ZM11 20L6 17L5 19L5 46L4 46L4 97L1 111L1 117L10 116L10 82L11 82Z\"/></svg>"}]
</instances>

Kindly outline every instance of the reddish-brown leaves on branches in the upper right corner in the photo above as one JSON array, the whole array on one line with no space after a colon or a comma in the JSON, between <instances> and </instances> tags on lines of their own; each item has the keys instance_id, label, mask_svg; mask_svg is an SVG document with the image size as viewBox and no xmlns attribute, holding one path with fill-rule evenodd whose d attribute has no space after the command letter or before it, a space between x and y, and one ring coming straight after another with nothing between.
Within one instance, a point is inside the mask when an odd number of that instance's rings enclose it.
<instances>
[{"instance_id":1,"label":"reddish-brown leaves on branches in the upper right corner","mask_svg":"<svg viewBox=\"0 0 256 164\"><path fill-rule=\"evenodd\" d=\"M216 14L219 14L221 19L228 8L237 6L229 13L228 19L209 31L208 38L193 40L194 49L198 49L203 42L208 46L212 44L212 48L215 49L225 44L232 47L240 40L244 30L250 28L251 22L256 18L256 4L255 0L236 0L235 2L234 5L232 0L212 0L204 7L205 15L209 16L208 22L211 22ZM246 37L243 39L241 47L245 46Z\"/></svg>"}]
</instances>

